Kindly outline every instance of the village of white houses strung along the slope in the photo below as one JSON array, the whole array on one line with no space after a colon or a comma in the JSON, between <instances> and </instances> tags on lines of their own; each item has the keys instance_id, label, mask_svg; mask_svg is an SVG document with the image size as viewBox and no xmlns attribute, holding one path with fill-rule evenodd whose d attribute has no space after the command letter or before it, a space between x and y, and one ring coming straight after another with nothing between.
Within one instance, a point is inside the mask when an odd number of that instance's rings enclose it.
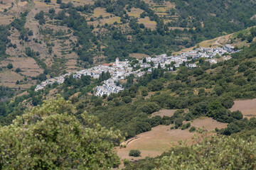
<instances>
[{"instance_id":1,"label":"village of white houses strung along the slope","mask_svg":"<svg viewBox=\"0 0 256 170\"><path fill-rule=\"evenodd\" d=\"M80 79L82 75L93 77L94 79L99 79L100 74L102 72L110 72L111 78L103 81L102 86L97 86L95 88L95 95L96 96L103 96L114 93L117 94L119 91L123 91L124 89L122 86L117 85L117 81L120 79L125 79L129 75L133 74L135 77L142 77L145 73L145 68L147 68L147 72L151 72L152 69L161 67L161 68L168 68L169 71L174 70L174 67L179 67L180 64L185 62L191 61L192 59L198 59L201 57L206 58L211 63L217 63L215 59L216 55L223 55L225 53L234 53L238 52L235 51L232 45L225 45L225 47L215 47L215 48L207 48L207 47L200 47L196 48L196 50L191 50L189 52L184 52L181 55L170 56L168 57L166 54L157 55L156 57L146 57L145 60L139 60L137 64L133 67L131 66L128 60L119 61L117 57L115 62L110 64L102 64L90 69L83 69L78 72L63 74L60 77L55 77L53 79L48 79L43 81L41 84L36 86L36 91L43 89L48 84L53 84L57 82L58 84L62 84L65 80L66 76L73 75L74 78ZM139 66L139 67L138 67ZM186 64L186 67L193 68L197 67L196 64ZM135 69L139 68L139 69Z\"/></svg>"}]
</instances>

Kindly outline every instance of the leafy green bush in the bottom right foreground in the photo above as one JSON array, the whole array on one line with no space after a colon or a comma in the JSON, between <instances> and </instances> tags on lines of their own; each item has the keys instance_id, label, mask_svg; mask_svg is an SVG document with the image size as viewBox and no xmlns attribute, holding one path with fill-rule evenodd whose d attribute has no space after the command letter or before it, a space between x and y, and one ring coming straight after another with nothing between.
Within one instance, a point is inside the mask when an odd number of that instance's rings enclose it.
<instances>
[{"instance_id":1,"label":"leafy green bush in the bottom right foreground","mask_svg":"<svg viewBox=\"0 0 256 170\"><path fill-rule=\"evenodd\" d=\"M255 169L256 138L210 137L200 144L178 146L156 169Z\"/></svg>"}]
</instances>

